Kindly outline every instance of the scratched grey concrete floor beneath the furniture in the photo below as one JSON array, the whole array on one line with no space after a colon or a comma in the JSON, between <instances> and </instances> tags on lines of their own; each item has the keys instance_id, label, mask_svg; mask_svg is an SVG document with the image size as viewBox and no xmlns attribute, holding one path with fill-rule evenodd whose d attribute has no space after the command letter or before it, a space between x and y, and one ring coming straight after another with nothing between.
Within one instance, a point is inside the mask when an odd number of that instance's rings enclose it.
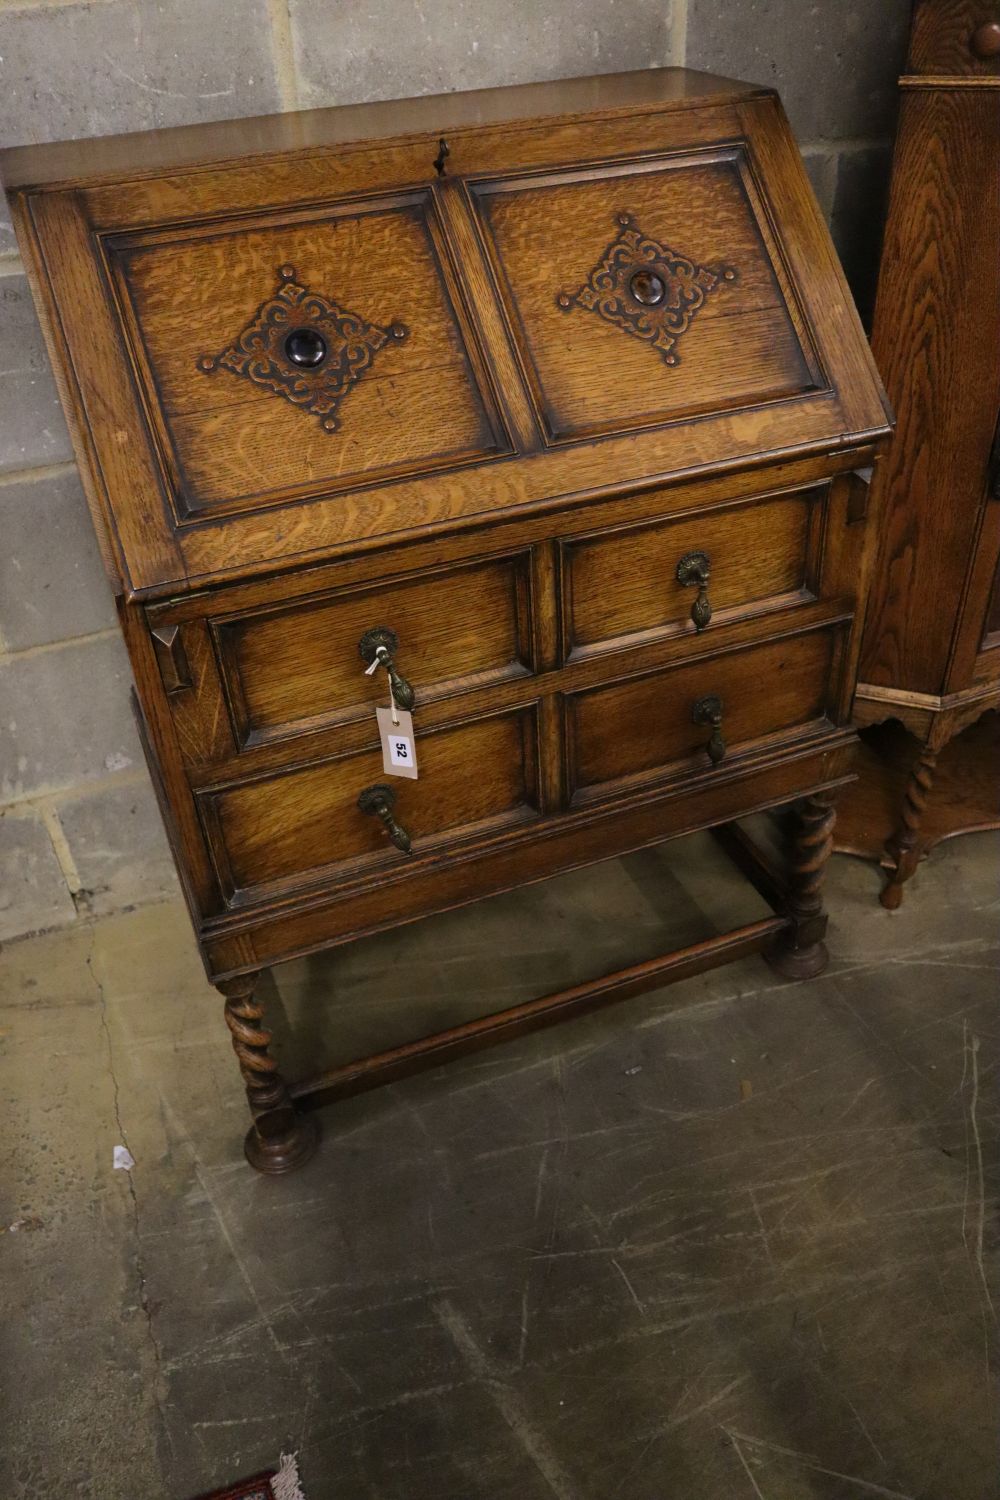
<instances>
[{"instance_id":1,"label":"scratched grey concrete floor beneath the furniture","mask_svg":"<svg viewBox=\"0 0 1000 1500\"><path fill-rule=\"evenodd\" d=\"M0 1494L993 1500L1000 836L748 960L322 1114L288 1179L180 904L0 956ZM268 981L315 1066L717 922L705 837ZM301 1062L298 1064L301 1066ZM112 1172L126 1143L135 1168Z\"/></svg>"}]
</instances>

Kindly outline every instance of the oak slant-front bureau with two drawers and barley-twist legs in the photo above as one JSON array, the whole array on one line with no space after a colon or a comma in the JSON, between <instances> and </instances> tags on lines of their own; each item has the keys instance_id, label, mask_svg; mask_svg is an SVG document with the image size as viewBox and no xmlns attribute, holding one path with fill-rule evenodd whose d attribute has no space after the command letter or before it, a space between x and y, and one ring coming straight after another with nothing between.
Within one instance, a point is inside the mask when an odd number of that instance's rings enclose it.
<instances>
[{"instance_id":1,"label":"oak slant-front bureau with two drawers and barley-twist legs","mask_svg":"<svg viewBox=\"0 0 1000 1500\"><path fill-rule=\"evenodd\" d=\"M0 170L255 1167L421 1060L760 948L822 968L888 416L771 90L651 70ZM789 802L777 870L735 820ZM277 1071L264 966L709 826L772 916Z\"/></svg>"}]
</instances>

